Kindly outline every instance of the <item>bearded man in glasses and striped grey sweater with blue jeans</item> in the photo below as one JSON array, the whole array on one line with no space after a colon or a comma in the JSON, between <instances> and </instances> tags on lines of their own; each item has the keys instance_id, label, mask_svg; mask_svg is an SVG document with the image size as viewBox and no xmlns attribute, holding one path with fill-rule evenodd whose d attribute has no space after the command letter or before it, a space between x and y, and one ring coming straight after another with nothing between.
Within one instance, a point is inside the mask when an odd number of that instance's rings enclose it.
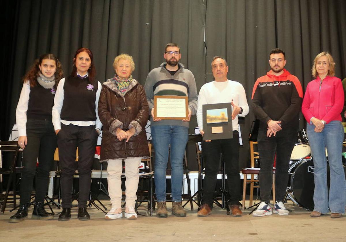
<instances>
[{"instance_id":1,"label":"bearded man in glasses and striped grey sweater with blue jeans","mask_svg":"<svg viewBox=\"0 0 346 242\"><path fill-rule=\"evenodd\" d=\"M155 149L155 193L157 217L167 217L166 208L166 167L170 147L172 215L186 216L181 206L183 185L183 158L188 142L190 117L197 111L197 88L191 71L179 63L180 48L169 43L163 54L166 62L149 72L144 89L151 111L151 134ZM154 95L187 96L189 100L188 119L161 120L154 116Z\"/></svg>"}]
</instances>

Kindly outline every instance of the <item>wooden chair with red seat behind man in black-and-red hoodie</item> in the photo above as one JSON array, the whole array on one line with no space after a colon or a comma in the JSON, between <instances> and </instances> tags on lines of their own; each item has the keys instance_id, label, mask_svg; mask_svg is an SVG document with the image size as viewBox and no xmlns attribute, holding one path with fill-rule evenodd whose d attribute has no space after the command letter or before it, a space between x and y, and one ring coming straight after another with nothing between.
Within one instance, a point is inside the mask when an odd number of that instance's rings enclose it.
<instances>
[{"instance_id":1,"label":"wooden chair with red seat behind man in black-and-red hoodie","mask_svg":"<svg viewBox=\"0 0 346 242\"><path fill-rule=\"evenodd\" d=\"M255 185L256 182L259 182L258 178L255 179L255 174L258 176L260 173L260 169L251 169L255 168L255 159L259 159L260 156L258 152L254 151L254 145L257 145L257 141L249 141L250 146L250 161L251 161L251 167L245 168L242 170L242 173L244 175L244 182L243 182L243 210L245 210L245 195L246 195L246 184L250 183L250 198L249 198L249 206L252 206L253 197L254 197L254 188L258 188L259 186ZM247 175L250 174L251 178L247 179ZM275 203L275 169L273 169L273 201Z\"/></svg>"}]
</instances>

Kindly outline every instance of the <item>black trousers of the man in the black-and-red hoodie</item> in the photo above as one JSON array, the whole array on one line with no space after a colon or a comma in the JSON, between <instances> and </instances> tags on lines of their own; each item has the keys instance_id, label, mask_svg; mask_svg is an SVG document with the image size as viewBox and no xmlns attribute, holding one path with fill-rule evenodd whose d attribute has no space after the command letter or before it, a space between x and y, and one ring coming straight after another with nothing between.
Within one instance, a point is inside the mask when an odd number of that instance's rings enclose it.
<instances>
[{"instance_id":1,"label":"black trousers of the man in the black-and-red hoodie","mask_svg":"<svg viewBox=\"0 0 346 242\"><path fill-rule=\"evenodd\" d=\"M270 202L273 184L273 164L276 153L275 197L277 202L283 202L288 185L288 169L291 153L297 139L297 129L282 129L276 137L266 136L267 129L258 132L258 153L260 155L260 195L261 202Z\"/></svg>"}]
</instances>

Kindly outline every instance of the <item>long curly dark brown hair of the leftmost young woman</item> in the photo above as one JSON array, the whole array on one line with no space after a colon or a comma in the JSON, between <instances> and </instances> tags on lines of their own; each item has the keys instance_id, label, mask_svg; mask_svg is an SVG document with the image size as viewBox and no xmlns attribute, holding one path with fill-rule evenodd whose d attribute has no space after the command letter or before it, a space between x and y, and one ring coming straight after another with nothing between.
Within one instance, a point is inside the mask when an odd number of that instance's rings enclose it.
<instances>
[{"instance_id":1,"label":"long curly dark brown hair of the leftmost young woman","mask_svg":"<svg viewBox=\"0 0 346 242\"><path fill-rule=\"evenodd\" d=\"M63 68L61 66L60 61L58 60L58 58L56 58L56 56L54 54L44 54L41 55L38 59L36 59L34 61L34 64L30 67L29 71L25 74L25 76L23 76L22 81L26 82L29 81L30 82L30 86L34 87L37 85L37 77L40 74L40 68L38 65L42 64L42 61L44 59L50 59L50 60L54 60L55 61L55 65L56 65L56 70L55 70L55 88L57 87L60 79L63 77L64 73L63 73Z\"/></svg>"}]
</instances>

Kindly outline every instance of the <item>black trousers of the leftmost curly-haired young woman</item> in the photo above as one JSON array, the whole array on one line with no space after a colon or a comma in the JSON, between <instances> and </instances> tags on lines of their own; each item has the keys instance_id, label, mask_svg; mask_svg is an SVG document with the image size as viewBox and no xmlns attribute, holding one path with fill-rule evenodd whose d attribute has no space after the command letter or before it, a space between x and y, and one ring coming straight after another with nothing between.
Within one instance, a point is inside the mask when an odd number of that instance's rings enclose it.
<instances>
[{"instance_id":1,"label":"black trousers of the leftmost curly-haired young woman","mask_svg":"<svg viewBox=\"0 0 346 242\"><path fill-rule=\"evenodd\" d=\"M28 143L23 151L20 204L30 203L35 175L35 201L43 202L56 148L56 135L51 119L28 119L26 122L26 135Z\"/></svg>"}]
</instances>

